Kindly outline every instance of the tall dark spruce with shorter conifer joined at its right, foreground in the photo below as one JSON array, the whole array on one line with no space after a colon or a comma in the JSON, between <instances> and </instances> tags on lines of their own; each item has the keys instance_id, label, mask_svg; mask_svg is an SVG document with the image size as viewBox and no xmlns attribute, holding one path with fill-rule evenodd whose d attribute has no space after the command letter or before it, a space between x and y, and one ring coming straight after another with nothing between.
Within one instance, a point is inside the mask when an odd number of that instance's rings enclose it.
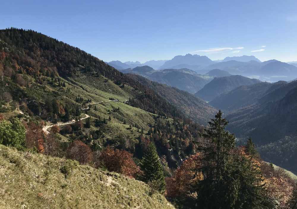
<instances>
[{"instance_id":1,"label":"tall dark spruce with shorter conifer joined at its right, foreground","mask_svg":"<svg viewBox=\"0 0 297 209\"><path fill-rule=\"evenodd\" d=\"M236 153L235 136L225 130L228 121L222 114L219 111L208 122L202 134L205 141L198 146L203 151L198 205L206 209L273 208L259 167L252 163L252 156Z\"/></svg>"}]
</instances>

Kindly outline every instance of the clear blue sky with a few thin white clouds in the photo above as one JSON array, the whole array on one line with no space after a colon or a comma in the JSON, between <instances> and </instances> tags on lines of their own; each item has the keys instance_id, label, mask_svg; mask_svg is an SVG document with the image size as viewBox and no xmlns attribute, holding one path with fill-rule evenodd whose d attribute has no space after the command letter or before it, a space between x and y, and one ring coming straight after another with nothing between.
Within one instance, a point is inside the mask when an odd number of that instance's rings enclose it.
<instances>
[{"instance_id":1,"label":"clear blue sky with a few thin white clouds","mask_svg":"<svg viewBox=\"0 0 297 209\"><path fill-rule=\"evenodd\" d=\"M32 29L102 59L297 61L297 0L1 1L0 28Z\"/></svg>"}]
</instances>

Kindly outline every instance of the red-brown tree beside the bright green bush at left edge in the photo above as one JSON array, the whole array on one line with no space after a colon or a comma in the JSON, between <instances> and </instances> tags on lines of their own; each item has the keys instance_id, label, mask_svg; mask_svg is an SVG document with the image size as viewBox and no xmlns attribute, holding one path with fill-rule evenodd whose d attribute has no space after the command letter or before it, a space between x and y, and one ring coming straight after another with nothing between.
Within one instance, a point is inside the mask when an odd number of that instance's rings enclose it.
<instances>
[{"instance_id":1,"label":"red-brown tree beside the bright green bush at left edge","mask_svg":"<svg viewBox=\"0 0 297 209\"><path fill-rule=\"evenodd\" d=\"M44 133L42 126L34 122L28 124L28 129L26 133L26 146L28 148L36 148L38 152L44 152L43 146Z\"/></svg>"}]
</instances>

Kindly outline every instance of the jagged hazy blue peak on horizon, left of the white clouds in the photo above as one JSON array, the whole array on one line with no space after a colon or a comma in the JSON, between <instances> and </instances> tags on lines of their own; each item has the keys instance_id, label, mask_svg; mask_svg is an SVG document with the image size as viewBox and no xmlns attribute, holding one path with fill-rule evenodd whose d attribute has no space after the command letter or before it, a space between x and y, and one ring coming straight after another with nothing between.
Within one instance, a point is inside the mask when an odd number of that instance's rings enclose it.
<instances>
[{"instance_id":1,"label":"jagged hazy blue peak on horizon, left of the white clouds","mask_svg":"<svg viewBox=\"0 0 297 209\"><path fill-rule=\"evenodd\" d=\"M175 56L171 60L166 61L160 67L160 69L171 68L173 66L177 66L180 64L208 66L212 63L213 61L206 56L186 54L184 56L182 55Z\"/></svg>"}]
</instances>

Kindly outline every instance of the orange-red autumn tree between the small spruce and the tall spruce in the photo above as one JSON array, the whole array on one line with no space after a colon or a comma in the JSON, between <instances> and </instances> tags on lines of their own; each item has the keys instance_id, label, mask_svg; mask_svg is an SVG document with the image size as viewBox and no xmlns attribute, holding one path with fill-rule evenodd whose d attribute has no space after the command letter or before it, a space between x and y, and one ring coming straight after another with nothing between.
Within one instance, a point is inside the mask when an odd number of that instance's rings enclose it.
<instances>
[{"instance_id":1,"label":"orange-red autumn tree between the small spruce and the tall spruce","mask_svg":"<svg viewBox=\"0 0 297 209\"><path fill-rule=\"evenodd\" d=\"M201 154L191 155L176 169L173 176L166 178L166 191L168 197L192 196L192 186L202 180L202 174L196 170L201 166ZM195 195L195 194L194 194Z\"/></svg>"}]
</instances>

